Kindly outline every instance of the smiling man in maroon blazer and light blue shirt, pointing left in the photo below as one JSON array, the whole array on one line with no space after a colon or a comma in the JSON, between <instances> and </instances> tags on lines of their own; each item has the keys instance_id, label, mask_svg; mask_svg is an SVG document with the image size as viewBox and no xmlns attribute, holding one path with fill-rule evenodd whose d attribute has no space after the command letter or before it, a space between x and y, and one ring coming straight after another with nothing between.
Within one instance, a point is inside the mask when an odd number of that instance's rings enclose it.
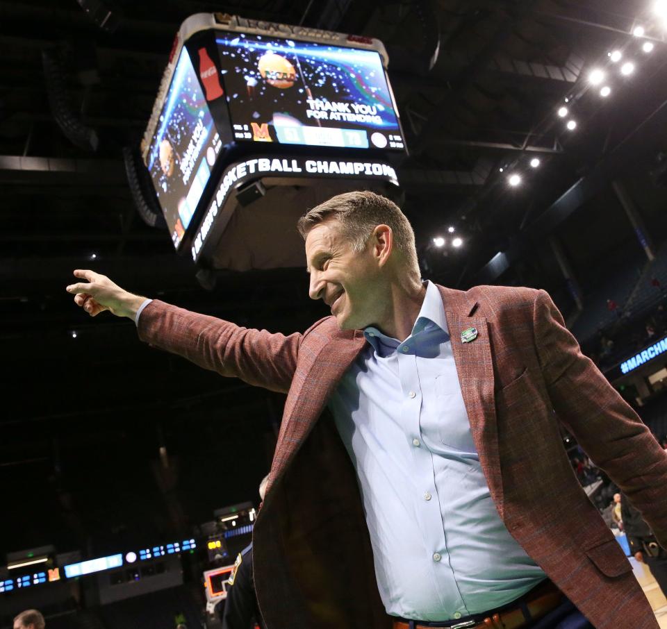
<instances>
[{"instance_id":1,"label":"smiling man in maroon blazer and light blue shirt, pointing left","mask_svg":"<svg viewBox=\"0 0 667 629\"><path fill-rule=\"evenodd\" d=\"M559 422L663 545L667 454L549 296L422 282L409 222L372 192L335 196L298 228L310 296L331 308L303 334L240 328L92 271L67 287L153 346L288 394L254 529L267 627L657 628Z\"/></svg>"}]
</instances>

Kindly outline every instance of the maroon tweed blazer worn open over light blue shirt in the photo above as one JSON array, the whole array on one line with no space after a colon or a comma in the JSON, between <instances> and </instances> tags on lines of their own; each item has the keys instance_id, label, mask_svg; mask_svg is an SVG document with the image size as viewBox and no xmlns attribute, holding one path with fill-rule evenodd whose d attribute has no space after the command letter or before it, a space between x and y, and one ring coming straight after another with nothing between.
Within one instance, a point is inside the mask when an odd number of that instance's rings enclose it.
<instances>
[{"instance_id":1,"label":"maroon tweed blazer worn open over light blue shirt","mask_svg":"<svg viewBox=\"0 0 667 629\"><path fill-rule=\"evenodd\" d=\"M667 546L667 453L609 385L544 291L440 287L479 460L513 537L597 628L657 628L629 562L579 486L559 422ZM461 332L479 336L463 344ZM222 376L288 394L254 529L270 629L384 629L359 489L325 405L365 344L327 317L304 334L248 330L160 301L140 338Z\"/></svg>"}]
</instances>

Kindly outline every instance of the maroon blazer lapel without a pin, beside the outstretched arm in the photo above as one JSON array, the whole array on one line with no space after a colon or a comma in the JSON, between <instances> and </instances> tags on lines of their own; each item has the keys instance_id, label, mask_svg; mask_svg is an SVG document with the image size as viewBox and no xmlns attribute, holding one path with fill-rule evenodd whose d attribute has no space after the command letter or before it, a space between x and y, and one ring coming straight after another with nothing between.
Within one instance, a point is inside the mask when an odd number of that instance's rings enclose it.
<instances>
[{"instance_id":1,"label":"maroon blazer lapel without a pin, beside the outstretched arm","mask_svg":"<svg viewBox=\"0 0 667 629\"><path fill-rule=\"evenodd\" d=\"M343 378L366 340L363 332L340 333L322 346L297 383L293 405L286 408L276 444L271 484L286 469L324 410L334 387ZM286 405L287 407L287 405Z\"/></svg>"}]
</instances>

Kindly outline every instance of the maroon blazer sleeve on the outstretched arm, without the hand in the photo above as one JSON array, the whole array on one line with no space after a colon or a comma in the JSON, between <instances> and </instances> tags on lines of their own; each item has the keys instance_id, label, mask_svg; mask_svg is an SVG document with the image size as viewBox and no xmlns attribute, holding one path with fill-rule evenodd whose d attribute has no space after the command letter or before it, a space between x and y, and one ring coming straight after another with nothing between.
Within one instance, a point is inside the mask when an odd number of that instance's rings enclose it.
<instances>
[{"instance_id":1,"label":"maroon blazer sleeve on the outstretched arm, without the hand","mask_svg":"<svg viewBox=\"0 0 667 629\"><path fill-rule=\"evenodd\" d=\"M249 385L288 392L302 335L249 330L154 299L139 317L139 338L199 367Z\"/></svg>"}]
</instances>

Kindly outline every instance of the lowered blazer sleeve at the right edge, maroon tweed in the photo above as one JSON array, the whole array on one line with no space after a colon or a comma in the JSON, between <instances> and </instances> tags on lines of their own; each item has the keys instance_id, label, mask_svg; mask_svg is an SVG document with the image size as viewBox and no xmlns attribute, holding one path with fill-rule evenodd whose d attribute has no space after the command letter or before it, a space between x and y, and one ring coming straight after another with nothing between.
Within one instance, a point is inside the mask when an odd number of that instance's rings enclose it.
<instances>
[{"instance_id":1,"label":"lowered blazer sleeve at the right edge, maroon tweed","mask_svg":"<svg viewBox=\"0 0 667 629\"><path fill-rule=\"evenodd\" d=\"M533 329L554 411L667 548L667 453L577 339L550 296L536 293Z\"/></svg>"}]
</instances>

